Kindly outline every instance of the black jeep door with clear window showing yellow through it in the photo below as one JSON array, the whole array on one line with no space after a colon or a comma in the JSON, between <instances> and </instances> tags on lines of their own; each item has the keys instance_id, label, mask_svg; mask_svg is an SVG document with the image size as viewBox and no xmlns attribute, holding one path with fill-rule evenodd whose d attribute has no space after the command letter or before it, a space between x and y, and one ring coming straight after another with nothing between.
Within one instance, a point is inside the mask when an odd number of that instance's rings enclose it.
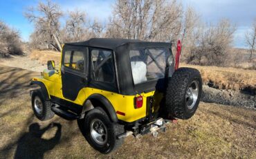
<instances>
[{"instance_id":1,"label":"black jeep door with clear window showing yellow through it","mask_svg":"<svg viewBox=\"0 0 256 159\"><path fill-rule=\"evenodd\" d=\"M88 55L84 46L64 46L62 53L62 94L75 100L87 85Z\"/></svg>"}]
</instances>

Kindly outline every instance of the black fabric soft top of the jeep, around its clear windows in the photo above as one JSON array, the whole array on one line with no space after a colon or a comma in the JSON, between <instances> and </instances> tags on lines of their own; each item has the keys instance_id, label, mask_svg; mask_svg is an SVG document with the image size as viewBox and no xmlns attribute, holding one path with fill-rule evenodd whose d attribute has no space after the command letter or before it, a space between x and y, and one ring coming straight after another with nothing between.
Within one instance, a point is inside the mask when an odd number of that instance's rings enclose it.
<instances>
[{"instance_id":1,"label":"black fabric soft top of the jeep, around its clear windows","mask_svg":"<svg viewBox=\"0 0 256 159\"><path fill-rule=\"evenodd\" d=\"M172 55L172 44L165 42L148 42L140 41L138 39L107 39L107 38L93 38L87 41L66 43L64 50L69 46L84 46L95 48L106 48L113 50L114 63L116 67L116 80L113 84L93 81L89 82L88 86L91 88L100 88L105 91L120 93L122 95L136 95L146 91L161 90L160 86L163 84L163 79L143 82L142 84L134 85L133 76L131 73L130 50L138 48L165 48L166 53ZM65 52L65 51L64 51ZM172 66L174 68L174 66ZM171 69L170 69L171 70ZM158 85L156 85L158 84Z\"/></svg>"}]
</instances>

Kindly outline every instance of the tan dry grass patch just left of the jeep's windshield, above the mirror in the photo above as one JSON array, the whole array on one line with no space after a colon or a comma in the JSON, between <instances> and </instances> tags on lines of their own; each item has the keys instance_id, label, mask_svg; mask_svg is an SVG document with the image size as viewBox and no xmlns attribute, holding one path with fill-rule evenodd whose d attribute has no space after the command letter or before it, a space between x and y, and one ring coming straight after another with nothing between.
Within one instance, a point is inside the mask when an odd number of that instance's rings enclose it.
<instances>
[{"instance_id":1,"label":"tan dry grass patch just left of the jeep's windshield, above the mirror","mask_svg":"<svg viewBox=\"0 0 256 159\"><path fill-rule=\"evenodd\" d=\"M55 64L60 64L60 53L54 50L32 50L30 59L37 59L41 64L47 64L48 60L54 60Z\"/></svg>"}]
</instances>

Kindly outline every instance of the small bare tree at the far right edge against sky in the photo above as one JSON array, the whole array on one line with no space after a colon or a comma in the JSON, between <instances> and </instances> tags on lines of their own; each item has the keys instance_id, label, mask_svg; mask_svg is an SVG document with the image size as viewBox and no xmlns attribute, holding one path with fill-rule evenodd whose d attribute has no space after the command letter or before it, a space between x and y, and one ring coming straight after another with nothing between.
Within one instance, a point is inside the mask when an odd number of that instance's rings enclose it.
<instances>
[{"instance_id":1,"label":"small bare tree at the far right edge against sky","mask_svg":"<svg viewBox=\"0 0 256 159\"><path fill-rule=\"evenodd\" d=\"M246 45L250 49L250 59L253 58L253 53L256 47L256 19L253 21L253 26L250 31L245 34Z\"/></svg>"}]
</instances>

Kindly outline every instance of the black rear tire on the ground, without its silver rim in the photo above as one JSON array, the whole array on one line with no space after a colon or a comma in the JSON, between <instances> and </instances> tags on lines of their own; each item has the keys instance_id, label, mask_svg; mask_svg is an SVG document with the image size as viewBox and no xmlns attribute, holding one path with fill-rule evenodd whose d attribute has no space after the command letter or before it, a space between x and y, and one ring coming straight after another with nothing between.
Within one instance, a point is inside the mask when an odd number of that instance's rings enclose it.
<instances>
[{"instance_id":1,"label":"black rear tire on the ground, without its silver rim","mask_svg":"<svg viewBox=\"0 0 256 159\"><path fill-rule=\"evenodd\" d=\"M93 121L95 120L102 122L107 129L105 143L99 144L91 135L91 124L93 125ZM77 122L80 124L80 127L84 127L82 129L84 137L86 138L87 142L89 142L91 147L97 151L100 151L100 153L111 153L111 151L117 149L123 143L124 140L118 140L116 136L124 133L124 127L120 124L111 122L109 116L102 108L96 107L95 109L89 111L89 113L87 113L84 118L84 125L81 124L82 121L83 120L77 120Z\"/></svg>"}]
</instances>

